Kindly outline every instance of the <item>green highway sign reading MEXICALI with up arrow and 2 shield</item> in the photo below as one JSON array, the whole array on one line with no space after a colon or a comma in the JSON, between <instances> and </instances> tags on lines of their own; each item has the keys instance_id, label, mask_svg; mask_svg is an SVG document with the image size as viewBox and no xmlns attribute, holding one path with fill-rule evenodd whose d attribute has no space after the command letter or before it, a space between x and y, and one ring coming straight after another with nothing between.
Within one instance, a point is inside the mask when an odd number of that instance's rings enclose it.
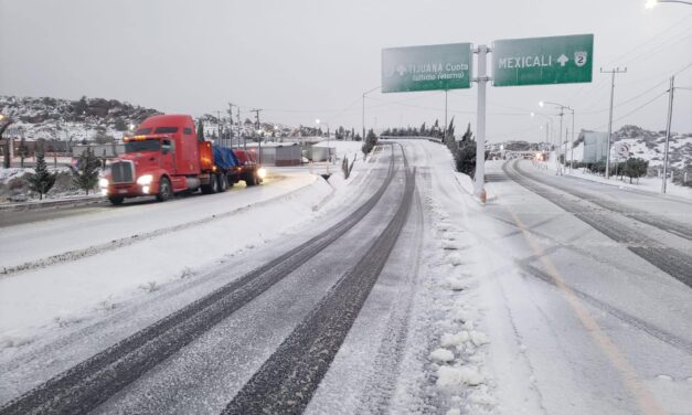
<instances>
[{"instance_id":1,"label":"green highway sign reading MEXICALI with up arrow and 2 shield","mask_svg":"<svg viewBox=\"0 0 692 415\"><path fill-rule=\"evenodd\" d=\"M594 35L507 39L492 47L493 86L592 82Z\"/></svg>"}]
</instances>

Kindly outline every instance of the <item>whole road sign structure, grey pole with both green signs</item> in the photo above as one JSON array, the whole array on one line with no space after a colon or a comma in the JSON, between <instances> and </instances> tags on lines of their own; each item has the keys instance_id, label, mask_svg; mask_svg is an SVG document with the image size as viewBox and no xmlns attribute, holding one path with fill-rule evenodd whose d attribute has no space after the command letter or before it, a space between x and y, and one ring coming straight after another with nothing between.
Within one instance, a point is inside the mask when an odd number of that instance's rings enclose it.
<instances>
[{"instance_id":1,"label":"whole road sign structure, grey pole with both green signs","mask_svg":"<svg viewBox=\"0 0 692 415\"><path fill-rule=\"evenodd\" d=\"M472 77L471 52L478 54ZM492 77L487 54L492 52ZM382 50L382 92L447 91L478 83L476 153L486 151L486 84L493 86L551 85L592 82L594 35L507 39L492 47L470 43L391 47ZM485 166L476 163L475 193L482 201Z\"/></svg>"}]
</instances>

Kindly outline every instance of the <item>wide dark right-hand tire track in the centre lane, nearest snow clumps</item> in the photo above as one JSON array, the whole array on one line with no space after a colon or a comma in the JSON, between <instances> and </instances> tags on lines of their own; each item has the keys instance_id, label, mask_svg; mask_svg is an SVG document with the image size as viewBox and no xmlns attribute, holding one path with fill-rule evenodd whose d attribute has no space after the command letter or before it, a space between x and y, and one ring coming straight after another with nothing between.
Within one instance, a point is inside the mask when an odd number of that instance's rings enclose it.
<instances>
[{"instance_id":1,"label":"wide dark right-hand tire track in the centre lane, nearest snow clumps","mask_svg":"<svg viewBox=\"0 0 692 415\"><path fill-rule=\"evenodd\" d=\"M403 150L402 150L403 152ZM238 394L230 414L298 414L320 381L370 295L411 210L415 171L405 163L405 192L394 216L365 255L279 345Z\"/></svg>"}]
</instances>

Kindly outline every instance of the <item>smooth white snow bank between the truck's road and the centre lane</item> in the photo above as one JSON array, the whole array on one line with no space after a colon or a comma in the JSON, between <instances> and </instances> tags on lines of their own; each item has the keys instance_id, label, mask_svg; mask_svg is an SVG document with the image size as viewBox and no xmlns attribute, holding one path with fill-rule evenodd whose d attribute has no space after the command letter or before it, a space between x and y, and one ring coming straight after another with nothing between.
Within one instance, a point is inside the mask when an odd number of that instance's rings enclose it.
<instances>
[{"instance_id":1,"label":"smooth white snow bank between the truck's road and the centre lane","mask_svg":"<svg viewBox=\"0 0 692 415\"><path fill-rule=\"evenodd\" d=\"M1 278L0 345L25 344L45 330L77 323L88 319L94 310L146 296L163 284L199 274L226 256L256 248L309 222L316 215L313 206L331 192L332 188L321 179L273 200L263 200L266 193L258 192L252 209L96 256ZM201 198L199 203L213 200ZM177 208L175 203L161 206ZM41 224L35 226L33 232L40 232ZM201 243L204 241L209 243Z\"/></svg>"}]
</instances>

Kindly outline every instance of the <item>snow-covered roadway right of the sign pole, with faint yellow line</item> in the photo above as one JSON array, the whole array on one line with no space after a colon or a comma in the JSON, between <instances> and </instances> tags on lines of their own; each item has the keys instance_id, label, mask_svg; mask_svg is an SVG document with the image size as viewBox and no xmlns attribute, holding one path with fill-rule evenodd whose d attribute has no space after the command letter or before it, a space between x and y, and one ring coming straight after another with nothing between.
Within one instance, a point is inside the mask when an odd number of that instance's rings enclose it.
<instances>
[{"instance_id":1,"label":"snow-covered roadway right of the sign pole, with faint yellow line","mask_svg":"<svg viewBox=\"0 0 692 415\"><path fill-rule=\"evenodd\" d=\"M689 240L595 203L608 199L608 187L582 199L583 181L554 187L562 178L531 169L526 161L489 167L497 199L483 212L492 231L479 236L501 253L485 287L491 337L503 338L490 351L498 395L511 401L524 390L547 413L686 413ZM627 206L628 195L617 203ZM686 223L684 214L657 220ZM503 372L508 364L513 373ZM529 408L530 401L515 403Z\"/></svg>"}]
</instances>

